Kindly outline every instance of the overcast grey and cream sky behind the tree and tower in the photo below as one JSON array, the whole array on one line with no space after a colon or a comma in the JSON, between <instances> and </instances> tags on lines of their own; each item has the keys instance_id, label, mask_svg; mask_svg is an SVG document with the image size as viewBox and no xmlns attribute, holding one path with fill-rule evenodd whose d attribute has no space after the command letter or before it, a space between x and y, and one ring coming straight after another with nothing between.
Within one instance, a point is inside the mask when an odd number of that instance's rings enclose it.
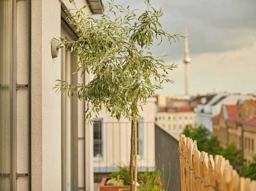
<instances>
[{"instance_id":1,"label":"overcast grey and cream sky behind the tree and tower","mask_svg":"<svg viewBox=\"0 0 256 191\"><path fill-rule=\"evenodd\" d=\"M116 3L145 9L144 0ZM166 31L189 31L190 94L256 93L256 0L151 0L151 4L164 9L161 23ZM176 63L178 69L170 73L174 84L165 84L158 93L183 94L184 39L152 48L156 54L165 51L169 52L166 63Z\"/></svg>"}]
</instances>

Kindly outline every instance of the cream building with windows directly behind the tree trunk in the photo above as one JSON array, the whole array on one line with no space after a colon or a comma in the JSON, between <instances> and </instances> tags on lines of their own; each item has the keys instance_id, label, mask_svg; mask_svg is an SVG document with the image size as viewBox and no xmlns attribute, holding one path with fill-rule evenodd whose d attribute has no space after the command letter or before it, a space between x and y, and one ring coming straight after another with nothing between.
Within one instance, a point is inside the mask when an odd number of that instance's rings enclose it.
<instances>
[{"instance_id":1,"label":"cream building with windows directly behind the tree trunk","mask_svg":"<svg viewBox=\"0 0 256 191\"><path fill-rule=\"evenodd\" d=\"M156 99L151 98L140 110L137 122L138 171L155 168ZM116 121L103 109L93 125L93 171L109 174L118 166L130 165L131 122L121 117Z\"/></svg>"}]
</instances>

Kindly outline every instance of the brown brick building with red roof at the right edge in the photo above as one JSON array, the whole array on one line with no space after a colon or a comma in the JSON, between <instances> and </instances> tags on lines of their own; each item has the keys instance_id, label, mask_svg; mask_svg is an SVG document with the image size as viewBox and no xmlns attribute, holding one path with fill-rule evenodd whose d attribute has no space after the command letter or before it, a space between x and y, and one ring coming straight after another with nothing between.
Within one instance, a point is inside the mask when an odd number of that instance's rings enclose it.
<instances>
[{"instance_id":1,"label":"brown brick building with red roof at the right edge","mask_svg":"<svg viewBox=\"0 0 256 191\"><path fill-rule=\"evenodd\" d=\"M234 143L244 152L247 163L256 155L256 101L239 100L236 105L223 105L212 118L213 134L222 146Z\"/></svg>"}]
</instances>

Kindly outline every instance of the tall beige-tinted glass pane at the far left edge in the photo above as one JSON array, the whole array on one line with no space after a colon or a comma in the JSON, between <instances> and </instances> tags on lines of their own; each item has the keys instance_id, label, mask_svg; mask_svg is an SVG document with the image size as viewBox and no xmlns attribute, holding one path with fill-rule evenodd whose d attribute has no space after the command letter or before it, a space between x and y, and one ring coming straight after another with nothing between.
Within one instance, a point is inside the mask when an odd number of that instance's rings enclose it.
<instances>
[{"instance_id":1,"label":"tall beige-tinted glass pane at the far left edge","mask_svg":"<svg viewBox=\"0 0 256 191\"><path fill-rule=\"evenodd\" d=\"M12 0L0 0L0 190L10 190ZM9 177L8 177L9 176Z\"/></svg>"}]
</instances>

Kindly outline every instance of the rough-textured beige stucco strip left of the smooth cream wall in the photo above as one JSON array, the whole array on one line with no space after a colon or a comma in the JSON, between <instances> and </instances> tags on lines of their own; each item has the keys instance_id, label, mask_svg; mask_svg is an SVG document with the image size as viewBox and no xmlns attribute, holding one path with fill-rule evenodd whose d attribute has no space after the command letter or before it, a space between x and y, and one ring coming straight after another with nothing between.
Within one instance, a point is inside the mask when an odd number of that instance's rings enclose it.
<instances>
[{"instance_id":1,"label":"rough-textured beige stucco strip left of the smooth cream wall","mask_svg":"<svg viewBox=\"0 0 256 191\"><path fill-rule=\"evenodd\" d=\"M42 191L42 1L32 1L31 22L31 158L32 190Z\"/></svg>"}]
</instances>

